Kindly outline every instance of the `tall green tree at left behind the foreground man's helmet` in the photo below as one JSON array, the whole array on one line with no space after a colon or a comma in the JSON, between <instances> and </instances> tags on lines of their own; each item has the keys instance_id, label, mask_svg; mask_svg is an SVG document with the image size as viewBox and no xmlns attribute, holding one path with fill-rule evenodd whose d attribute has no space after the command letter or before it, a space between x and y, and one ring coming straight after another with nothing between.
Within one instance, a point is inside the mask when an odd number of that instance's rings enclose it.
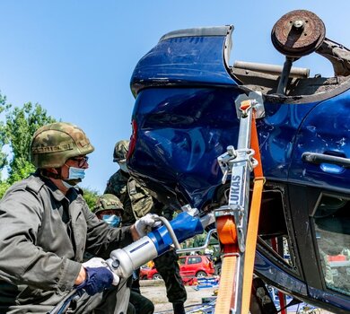
<instances>
[{"instance_id":1,"label":"tall green tree at left behind the foreground man's helmet","mask_svg":"<svg viewBox=\"0 0 350 314\"><path fill-rule=\"evenodd\" d=\"M0 121L0 171L8 172L8 178L0 177L0 197L14 182L28 177L35 170L30 161L31 137L40 127L56 122L55 118L38 103L25 103L22 108L13 107L6 103L6 97L0 93L0 114L4 121ZM4 152L8 145L10 153ZM6 168L7 167L7 168Z\"/></svg>"}]
</instances>

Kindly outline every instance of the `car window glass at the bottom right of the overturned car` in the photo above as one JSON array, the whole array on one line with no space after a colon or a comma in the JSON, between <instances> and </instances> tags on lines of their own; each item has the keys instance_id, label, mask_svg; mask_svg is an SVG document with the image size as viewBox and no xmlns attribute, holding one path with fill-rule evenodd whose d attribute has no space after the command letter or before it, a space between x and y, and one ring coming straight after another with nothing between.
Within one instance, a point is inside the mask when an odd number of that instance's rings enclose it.
<instances>
[{"instance_id":1,"label":"car window glass at the bottom right of the overturned car","mask_svg":"<svg viewBox=\"0 0 350 314\"><path fill-rule=\"evenodd\" d=\"M350 202L322 196L314 214L314 227L328 289L350 295Z\"/></svg>"}]
</instances>

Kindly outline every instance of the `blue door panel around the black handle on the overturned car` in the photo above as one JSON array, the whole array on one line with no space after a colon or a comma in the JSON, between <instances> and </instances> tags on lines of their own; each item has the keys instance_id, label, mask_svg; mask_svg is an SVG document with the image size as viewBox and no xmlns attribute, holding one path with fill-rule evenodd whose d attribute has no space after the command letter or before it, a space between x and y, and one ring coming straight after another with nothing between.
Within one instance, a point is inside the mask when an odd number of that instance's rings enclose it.
<instances>
[{"instance_id":1,"label":"blue door panel around the black handle on the overturned car","mask_svg":"<svg viewBox=\"0 0 350 314\"><path fill-rule=\"evenodd\" d=\"M329 190L350 192L350 170L324 169L302 161L302 153L325 153L343 158L350 157L350 91L324 100L312 109L302 121L294 144L289 179Z\"/></svg>"}]
</instances>

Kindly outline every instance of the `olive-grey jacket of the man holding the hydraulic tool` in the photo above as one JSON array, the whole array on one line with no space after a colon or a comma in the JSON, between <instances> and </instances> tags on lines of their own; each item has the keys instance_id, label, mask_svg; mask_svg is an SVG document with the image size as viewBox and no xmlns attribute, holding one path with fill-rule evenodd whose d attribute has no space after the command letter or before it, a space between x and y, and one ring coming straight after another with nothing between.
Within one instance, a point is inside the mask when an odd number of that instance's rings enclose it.
<instances>
[{"instance_id":1,"label":"olive-grey jacket of the man holding the hydraulic tool","mask_svg":"<svg viewBox=\"0 0 350 314\"><path fill-rule=\"evenodd\" d=\"M31 291L33 300L48 297L48 291L69 291L85 249L107 258L112 249L131 242L128 227L109 228L78 193L68 200L39 178L23 180L0 201L1 289L10 289L14 299ZM0 303L5 295L0 290Z\"/></svg>"}]
</instances>

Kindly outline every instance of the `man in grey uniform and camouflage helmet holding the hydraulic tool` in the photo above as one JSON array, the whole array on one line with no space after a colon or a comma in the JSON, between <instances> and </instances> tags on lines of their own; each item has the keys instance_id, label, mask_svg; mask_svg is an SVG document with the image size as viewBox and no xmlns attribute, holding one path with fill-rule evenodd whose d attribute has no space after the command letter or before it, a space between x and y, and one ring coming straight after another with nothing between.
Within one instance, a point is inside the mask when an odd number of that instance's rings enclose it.
<instances>
[{"instance_id":1,"label":"man in grey uniform and camouflage helmet holding the hydraulic tool","mask_svg":"<svg viewBox=\"0 0 350 314\"><path fill-rule=\"evenodd\" d=\"M126 310L124 285L112 286L119 278L99 257L138 240L154 222L110 228L91 213L76 184L93 150L83 130L69 123L33 135L37 170L0 201L0 313L47 313L74 288L86 293L70 313ZM99 257L83 263L84 251Z\"/></svg>"}]
</instances>

